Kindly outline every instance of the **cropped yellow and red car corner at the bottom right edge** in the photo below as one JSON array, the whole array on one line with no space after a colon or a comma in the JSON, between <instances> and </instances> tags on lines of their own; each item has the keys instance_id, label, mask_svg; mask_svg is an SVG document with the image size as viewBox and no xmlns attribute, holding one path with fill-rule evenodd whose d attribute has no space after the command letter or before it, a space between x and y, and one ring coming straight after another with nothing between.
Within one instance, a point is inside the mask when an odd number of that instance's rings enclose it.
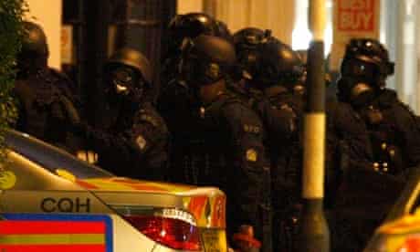
<instances>
[{"instance_id":1,"label":"cropped yellow and red car corner at the bottom right edge","mask_svg":"<svg viewBox=\"0 0 420 252\"><path fill-rule=\"evenodd\" d=\"M383 225L364 252L420 251L420 170L415 167Z\"/></svg>"}]
</instances>

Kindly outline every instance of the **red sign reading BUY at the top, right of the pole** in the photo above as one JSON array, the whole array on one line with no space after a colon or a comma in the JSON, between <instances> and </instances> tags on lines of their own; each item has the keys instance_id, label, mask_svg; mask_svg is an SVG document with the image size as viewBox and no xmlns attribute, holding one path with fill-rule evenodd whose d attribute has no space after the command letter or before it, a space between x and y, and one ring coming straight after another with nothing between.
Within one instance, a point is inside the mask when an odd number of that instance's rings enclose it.
<instances>
[{"instance_id":1,"label":"red sign reading BUY at the top, right of the pole","mask_svg":"<svg viewBox=\"0 0 420 252\"><path fill-rule=\"evenodd\" d=\"M338 24L341 31L373 32L375 28L375 0L338 1Z\"/></svg>"}]
</instances>

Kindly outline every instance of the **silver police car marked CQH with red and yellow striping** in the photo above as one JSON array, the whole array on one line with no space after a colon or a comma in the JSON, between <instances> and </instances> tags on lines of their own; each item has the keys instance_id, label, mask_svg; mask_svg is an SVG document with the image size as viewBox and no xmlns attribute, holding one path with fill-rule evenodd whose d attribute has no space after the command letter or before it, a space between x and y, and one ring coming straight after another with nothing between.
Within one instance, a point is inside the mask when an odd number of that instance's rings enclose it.
<instances>
[{"instance_id":1,"label":"silver police car marked CQH with red and yellow striping","mask_svg":"<svg viewBox=\"0 0 420 252\"><path fill-rule=\"evenodd\" d=\"M7 131L0 251L226 251L217 188L116 177Z\"/></svg>"}]
</instances>

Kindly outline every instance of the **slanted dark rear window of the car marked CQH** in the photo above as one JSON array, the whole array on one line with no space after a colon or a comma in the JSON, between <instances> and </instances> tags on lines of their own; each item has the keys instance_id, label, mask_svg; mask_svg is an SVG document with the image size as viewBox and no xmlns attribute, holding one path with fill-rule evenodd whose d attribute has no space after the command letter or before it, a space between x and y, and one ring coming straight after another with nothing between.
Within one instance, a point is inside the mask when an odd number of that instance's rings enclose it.
<instances>
[{"instance_id":1,"label":"slanted dark rear window of the car marked CQH","mask_svg":"<svg viewBox=\"0 0 420 252\"><path fill-rule=\"evenodd\" d=\"M5 143L12 149L34 163L43 166L51 173L57 169L67 170L79 179L100 178L113 176L99 167L81 161L73 155L57 147L37 140L26 133L19 131L7 131Z\"/></svg>"}]
</instances>

